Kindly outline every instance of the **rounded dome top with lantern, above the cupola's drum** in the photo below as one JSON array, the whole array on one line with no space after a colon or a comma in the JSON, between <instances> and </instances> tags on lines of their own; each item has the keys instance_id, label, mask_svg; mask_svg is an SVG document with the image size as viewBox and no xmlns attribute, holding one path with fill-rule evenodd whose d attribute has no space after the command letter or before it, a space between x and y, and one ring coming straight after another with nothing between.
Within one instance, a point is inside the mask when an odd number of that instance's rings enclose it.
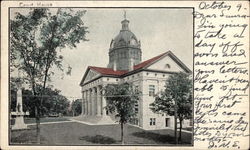
<instances>
[{"instance_id":1,"label":"rounded dome top with lantern, above the cupola's drum","mask_svg":"<svg viewBox=\"0 0 250 150\"><path fill-rule=\"evenodd\" d=\"M135 34L129 30L128 23L129 21L126 19L122 21L122 29L111 41L110 50L124 46L140 48L140 41L138 41Z\"/></svg>"}]
</instances>

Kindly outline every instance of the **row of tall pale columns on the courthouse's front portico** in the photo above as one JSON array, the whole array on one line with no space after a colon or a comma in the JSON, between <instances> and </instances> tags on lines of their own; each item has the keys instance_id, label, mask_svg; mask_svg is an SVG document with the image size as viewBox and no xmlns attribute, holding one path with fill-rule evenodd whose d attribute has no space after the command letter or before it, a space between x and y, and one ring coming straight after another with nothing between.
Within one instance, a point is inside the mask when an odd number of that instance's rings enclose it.
<instances>
[{"instance_id":1,"label":"row of tall pale columns on the courthouse's front portico","mask_svg":"<svg viewBox=\"0 0 250 150\"><path fill-rule=\"evenodd\" d=\"M106 98L101 89L96 86L82 91L82 115L106 116Z\"/></svg>"}]
</instances>

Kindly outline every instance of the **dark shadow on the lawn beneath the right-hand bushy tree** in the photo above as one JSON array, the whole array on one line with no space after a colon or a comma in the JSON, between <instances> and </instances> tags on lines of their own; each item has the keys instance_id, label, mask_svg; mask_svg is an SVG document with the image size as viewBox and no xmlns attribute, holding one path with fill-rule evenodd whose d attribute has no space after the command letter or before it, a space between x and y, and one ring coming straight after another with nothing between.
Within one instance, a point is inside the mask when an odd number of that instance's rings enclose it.
<instances>
[{"instance_id":1,"label":"dark shadow on the lawn beneath the right-hand bushy tree","mask_svg":"<svg viewBox=\"0 0 250 150\"><path fill-rule=\"evenodd\" d=\"M175 144L174 137L170 135L161 135L153 132L135 132L132 134L133 136L140 137L140 138L146 138L149 140L153 140L156 143L164 143L164 144Z\"/></svg>"}]
</instances>

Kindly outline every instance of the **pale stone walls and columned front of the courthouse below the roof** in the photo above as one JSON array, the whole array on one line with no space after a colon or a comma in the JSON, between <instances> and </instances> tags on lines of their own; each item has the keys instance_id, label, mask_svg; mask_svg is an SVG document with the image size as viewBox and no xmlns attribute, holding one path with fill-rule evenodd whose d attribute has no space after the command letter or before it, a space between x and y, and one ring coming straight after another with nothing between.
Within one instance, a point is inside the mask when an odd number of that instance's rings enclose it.
<instances>
[{"instance_id":1,"label":"pale stone walls and columned front of the courthouse below the roof","mask_svg":"<svg viewBox=\"0 0 250 150\"><path fill-rule=\"evenodd\" d=\"M82 85L83 94L83 114L84 116L101 116L110 117L114 119L112 114L107 114L104 107L106 106L105 97L101 96L102 87L107 84L119 84L123 82L132 83L137 86L138 90L142 92L137 105L138 115L131 121L131 124L137 125L146 130L174 128L173 116L167 114L155 114L150 108L149 104L154 101L155 94L164 90L164 85L169 73L141 71L132 75L124 76L122 78L101 76L93 81ZM153 87L154 92L150 92ZM190 121L185 120L183 127L190 126Z\"/></svg>"}]
</instances>

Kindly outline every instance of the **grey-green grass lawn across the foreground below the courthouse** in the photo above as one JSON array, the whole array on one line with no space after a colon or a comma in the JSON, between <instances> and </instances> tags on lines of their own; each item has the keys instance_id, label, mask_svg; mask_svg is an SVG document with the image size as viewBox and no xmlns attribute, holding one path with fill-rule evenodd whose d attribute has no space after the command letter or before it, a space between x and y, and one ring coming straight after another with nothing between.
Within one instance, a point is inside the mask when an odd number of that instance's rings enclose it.
<instances>
[{"instance_id":1,"label":"grey-green grass lawn across the foreground below the courthouse","mask_svg":"<svg viewBox=\"0 0 250 150\"><path fill-rule=\"evenodd\" d=\"M11 131L12 144L35 143L35 126L30 130ZM170 129L145 131L138 127L125 125L125 144L129 145L172 145L174 131ZM183 144L191 146L192 134L182 133ZM77 122L41 125L41 144L43 145L99 145L121 144L120 125L86 125Z\"/></svg>"}]
</instances>

